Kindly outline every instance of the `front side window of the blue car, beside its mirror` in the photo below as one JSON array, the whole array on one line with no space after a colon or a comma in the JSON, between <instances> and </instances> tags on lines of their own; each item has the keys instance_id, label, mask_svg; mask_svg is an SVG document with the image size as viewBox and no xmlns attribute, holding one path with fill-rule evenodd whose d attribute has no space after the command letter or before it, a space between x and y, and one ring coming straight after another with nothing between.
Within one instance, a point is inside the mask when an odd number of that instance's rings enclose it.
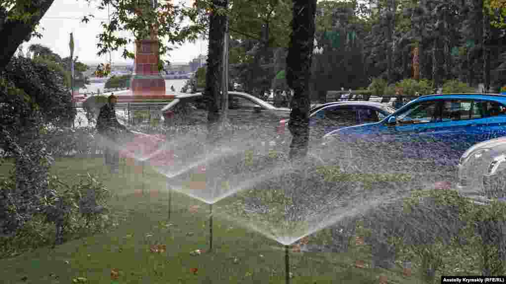
<instances>
[{"instance_id":1,"label":"front side window of the blue car, beside its mirror","mask_svg":"<svg viewBox=\"0 0 506 284\"><path fill-rule=\"evenodd\" d=\"M439 101L421 102L397 116L400 124L418 124L438 121L437 109Z\"/></svg>"}]
</instances>

